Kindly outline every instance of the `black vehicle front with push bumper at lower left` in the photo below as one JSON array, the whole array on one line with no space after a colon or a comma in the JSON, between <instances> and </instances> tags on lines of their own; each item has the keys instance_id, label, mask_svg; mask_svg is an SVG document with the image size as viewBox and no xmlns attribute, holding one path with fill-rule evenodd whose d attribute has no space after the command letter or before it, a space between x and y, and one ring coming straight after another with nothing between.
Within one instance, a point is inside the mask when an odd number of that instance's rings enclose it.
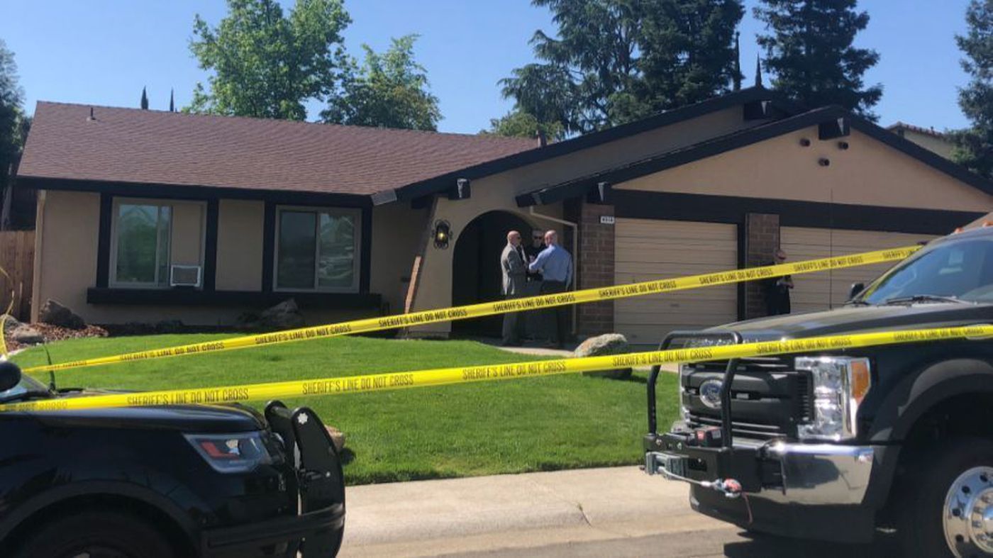
<instances>
[{"instance_id":1,"label":"black vehicle front with push bumper at lower left","mask_svg":"<svg viewBox=\"0 0 993 558\"><path fill-rule=\"evenodd\" d=\"M0 362L0 402L81 397ZM0 556L335 556L342 466L269 403L0 413Z\"/></svg>"}]
</instances>

